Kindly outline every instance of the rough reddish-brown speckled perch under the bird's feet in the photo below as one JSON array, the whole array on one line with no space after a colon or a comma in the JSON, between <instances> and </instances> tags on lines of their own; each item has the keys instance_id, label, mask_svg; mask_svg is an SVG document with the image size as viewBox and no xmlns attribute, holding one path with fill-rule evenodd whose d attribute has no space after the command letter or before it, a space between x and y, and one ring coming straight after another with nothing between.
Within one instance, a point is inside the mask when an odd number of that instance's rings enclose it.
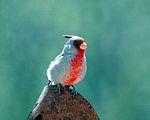
<instances>
[{"instance_id":1,"label":"rough reddish-brown speckled perch under the bird's feet","mask_svg":"<svg viewBox=\"0 0 150 120\"><path fill-rule=\"evenodd\" d=\"M61 96L56 86L45 86L27 120L99 120L94 108L79 93L72 99L64 87Z\"/></svg>"}]
</instances>

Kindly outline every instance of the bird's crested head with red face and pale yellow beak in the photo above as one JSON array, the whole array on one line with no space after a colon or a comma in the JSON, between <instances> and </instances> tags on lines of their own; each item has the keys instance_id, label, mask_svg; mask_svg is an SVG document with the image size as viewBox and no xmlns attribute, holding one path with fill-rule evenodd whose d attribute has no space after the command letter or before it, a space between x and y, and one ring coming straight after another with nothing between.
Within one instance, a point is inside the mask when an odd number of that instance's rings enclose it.
<instances>
[{"instance_id":1,"label":"bird's crested head with red face and pale yellow beak","mask_svg":"<svg viewBox=\"0 0 150 120\"><path fill-rule=\"evenodd\" d=\"M83 38L74 35L64 35L65 38L69 38L65 44L65 51L69 52L84 52L87 48L86 42Z\"/></svg>"}]
</instances>

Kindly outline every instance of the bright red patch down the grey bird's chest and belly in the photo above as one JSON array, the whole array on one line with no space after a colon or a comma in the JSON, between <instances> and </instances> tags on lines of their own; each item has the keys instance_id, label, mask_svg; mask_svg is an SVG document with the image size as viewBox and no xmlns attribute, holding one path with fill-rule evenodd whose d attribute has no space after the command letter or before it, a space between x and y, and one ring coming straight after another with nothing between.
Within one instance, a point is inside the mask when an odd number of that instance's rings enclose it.
<instances>
[{"instance_id":1,"label":"bright red patch down the grey bird's chest and belly","mask_svg":"<svg viewBox=\"0 0 150 120\"><path fill-rule=\"evenodd\" d=\"M82 66L84 63L83 55L76 55L70 57L69 69L66 74L63 76L63 83L66 85L73 84L80 78L82 73Z\"/></svg>"}]
</instances>

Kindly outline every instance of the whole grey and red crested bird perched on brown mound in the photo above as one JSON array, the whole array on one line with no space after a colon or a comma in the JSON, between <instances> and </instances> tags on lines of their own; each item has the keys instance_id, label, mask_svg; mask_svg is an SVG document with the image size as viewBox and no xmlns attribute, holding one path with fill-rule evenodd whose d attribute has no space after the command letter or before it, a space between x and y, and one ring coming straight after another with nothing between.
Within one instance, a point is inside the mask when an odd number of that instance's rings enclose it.
<instances>
[{"instance_id":1,"label":"whole grey and red crested bird perched on brown mound","mask_svg":"<svg viewBox=\"0 0 150 120\"><path fill-rule=\"evenodd\" d=\"M62 86L73 87L73 98L77 92L73 84L78 83L85 76L87 63L85 57L86 42L83 38L74 35L64 35L69 38L62 52L51 62L47 69L49 83L57 85L56 92L61 95ZM61 86L62 85L62 86Z\"/></svg>"}]
</instances>

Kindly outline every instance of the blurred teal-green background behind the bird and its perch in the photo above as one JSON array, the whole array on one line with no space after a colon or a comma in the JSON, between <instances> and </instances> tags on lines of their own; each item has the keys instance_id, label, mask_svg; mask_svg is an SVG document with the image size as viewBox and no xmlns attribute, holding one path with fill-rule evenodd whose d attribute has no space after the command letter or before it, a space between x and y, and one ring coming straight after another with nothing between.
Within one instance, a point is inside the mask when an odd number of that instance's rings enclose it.
<instances>
[{"instance_id":1,"label":"blurred teal-green background behind the bird and its perch","mask_svg":"<svg viewBox=\"0 0 150 120\"><path fill-rule=\"evenodd\" d=\"M85 38L75 85L102 120L150 120L148 0L0 0L0 119L23 120L68 39Z\"/></svg>"}]
</instances>

